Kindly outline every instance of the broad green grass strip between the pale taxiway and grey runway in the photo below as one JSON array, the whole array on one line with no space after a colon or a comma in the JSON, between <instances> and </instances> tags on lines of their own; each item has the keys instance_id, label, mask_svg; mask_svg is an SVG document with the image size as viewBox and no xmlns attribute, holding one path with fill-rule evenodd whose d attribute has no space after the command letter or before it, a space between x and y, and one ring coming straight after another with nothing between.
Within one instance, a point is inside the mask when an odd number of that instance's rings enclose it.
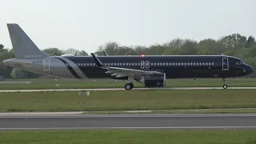
<instances>
[{"instance_id":1,"label":"broad green grass strip between the pale taxiway and grey runway","mask_svg":"<svg viewBox=\"0 0 256 144\"><path fill-rule=\"evenodd\" d=\"M256 108L256 90L119 90L0 93L2 111Z\"/></svg>"}]
</instances>

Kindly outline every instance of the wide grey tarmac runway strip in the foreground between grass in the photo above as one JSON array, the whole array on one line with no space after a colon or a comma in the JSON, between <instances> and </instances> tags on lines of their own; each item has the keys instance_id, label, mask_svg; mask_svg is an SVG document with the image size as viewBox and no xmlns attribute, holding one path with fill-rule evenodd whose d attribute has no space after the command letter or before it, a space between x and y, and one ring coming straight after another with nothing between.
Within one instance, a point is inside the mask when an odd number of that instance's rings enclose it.
<instances>
[{"instance_id":1,"label":"wide grey tarmac runway strip in the foreground between grass","mask_svg":"<svg viewBox=\"0 0 256 144\"><path fill-rule=\"evenodd\" d=\"M256 129L256 114L0 115L0 130Z\"/></svg>"}]
</instances>

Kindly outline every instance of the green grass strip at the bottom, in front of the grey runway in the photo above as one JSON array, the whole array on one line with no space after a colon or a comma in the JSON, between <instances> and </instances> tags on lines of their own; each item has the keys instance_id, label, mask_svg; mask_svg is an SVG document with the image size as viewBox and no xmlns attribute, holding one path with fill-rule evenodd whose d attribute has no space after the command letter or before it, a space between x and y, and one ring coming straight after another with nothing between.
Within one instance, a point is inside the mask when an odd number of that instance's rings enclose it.
<instances>
[{"instance_id":1,"label":"green grass strip at the bottom, in front of the grey runway","mask_svg":"<svg viewBox=\"0 0 256 144\"><path fill-rule=\"evenodd\" d=\"M256 130L80 130L0 133L2 144L256 144Z\"/></svg>"}]
</instances>

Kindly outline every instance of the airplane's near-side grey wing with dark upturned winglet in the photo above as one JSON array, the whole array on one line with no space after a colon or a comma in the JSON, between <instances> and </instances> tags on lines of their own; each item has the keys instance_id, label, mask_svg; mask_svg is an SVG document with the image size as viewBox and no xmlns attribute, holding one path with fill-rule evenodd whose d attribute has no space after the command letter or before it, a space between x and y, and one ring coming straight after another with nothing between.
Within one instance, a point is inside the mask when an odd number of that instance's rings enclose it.
<instances>
[{"instance_id":1,"label":"airplane's near-side grey wing with dark upturned winglet","mask_svg":"<svg viewBox=\"0 0 256 144\"><path fill-rule=\"evenodd\" d=\"M104 66L102 62L94 54L91 54L91 55L93 56L94 62L98 67L102 69L106 69L107 70L106 74L111 74L116 78L126 77L126 76L142 77L143 75L146 75L146 74L163 74L162 72L158 72L158 71L135 70L135 69L126 69L121 67Z\"/></svg>"}]
</instances>

